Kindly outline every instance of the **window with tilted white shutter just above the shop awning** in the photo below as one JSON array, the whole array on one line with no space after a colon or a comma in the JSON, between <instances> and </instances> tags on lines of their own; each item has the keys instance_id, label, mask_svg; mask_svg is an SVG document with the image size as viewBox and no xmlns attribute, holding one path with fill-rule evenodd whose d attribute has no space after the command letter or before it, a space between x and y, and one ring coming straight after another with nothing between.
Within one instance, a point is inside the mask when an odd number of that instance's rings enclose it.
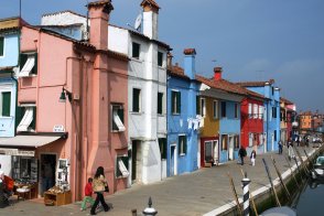
<instances>
[{"instance_id":1,"label":"window with tilted white shutter just above the shop awning","mask_svg":"<svg viewBox=\"0 0 324 216\"><path fill-rule=\"evenodd\" d=\"M24 105L24 106L18 107L17 119L20 121L20 123L17 127L18 132L35 131L35 126L36 126L35 105Z\"/></svg>"}]
</instances>

